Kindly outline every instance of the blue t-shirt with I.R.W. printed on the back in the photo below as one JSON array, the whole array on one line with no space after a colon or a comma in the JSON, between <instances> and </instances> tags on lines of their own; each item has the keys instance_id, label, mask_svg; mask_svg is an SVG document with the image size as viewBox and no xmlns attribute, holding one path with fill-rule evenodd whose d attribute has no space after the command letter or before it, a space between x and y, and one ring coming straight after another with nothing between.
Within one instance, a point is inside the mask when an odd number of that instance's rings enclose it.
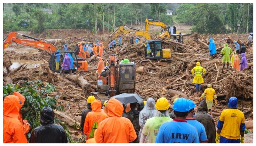
<instances>
[{"instance_id":1,"label":"blue t-shirt with I.R.W. printed on the back","mask_svg":"<svg viewBox=\"0 0 256 146\"><path fill-rule=\"evenodd\" d=\"M199 143L197 130L186 120L173 119L159 128L156 143Z\"/></svg>"}]
</instances>

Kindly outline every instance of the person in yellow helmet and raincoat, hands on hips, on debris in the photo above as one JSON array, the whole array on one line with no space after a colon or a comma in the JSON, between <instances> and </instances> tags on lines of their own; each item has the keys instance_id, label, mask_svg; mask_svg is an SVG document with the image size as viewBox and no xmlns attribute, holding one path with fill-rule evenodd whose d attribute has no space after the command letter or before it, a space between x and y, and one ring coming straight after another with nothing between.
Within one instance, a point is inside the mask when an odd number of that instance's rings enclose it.
<instances>
[{"instance_id":1,"label":"person in yellow helmet and raincoat, hands on hips, on debris","mask_svg":"<svg viewBox=\"0 0 256 146\"><path fill-rule=\"evenodd\" d=\"M200 92L201 84L204 83L204 79L202 77L202 73L205 74L206 70L200 66L200 62L196 62L196 66L191 70L191 73L195 75L192 83L196 84L196 93Z\"/></svg>"}]
</instances>

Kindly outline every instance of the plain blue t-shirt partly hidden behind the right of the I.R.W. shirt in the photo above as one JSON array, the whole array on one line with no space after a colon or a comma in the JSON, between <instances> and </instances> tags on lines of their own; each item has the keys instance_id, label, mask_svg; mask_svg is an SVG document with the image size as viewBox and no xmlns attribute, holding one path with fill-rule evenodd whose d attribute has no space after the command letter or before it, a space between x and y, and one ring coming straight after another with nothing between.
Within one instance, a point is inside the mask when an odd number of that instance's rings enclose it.
<instances>
[{"instance_id":1,"label":"plain blue t-shirt partly hidden behind the right of the I.R.W. shirt","mask_svg":"<svg viewBox=\"0 0 256 146\"><path fill-rule=\"evenodd\" d=\"M196 127L197 133L199 136L199 141L201 142L208 142L207 135L205 132L204 125L198 122L196 119L186 119L188 124Z\"/></svg>"}]
</instances>

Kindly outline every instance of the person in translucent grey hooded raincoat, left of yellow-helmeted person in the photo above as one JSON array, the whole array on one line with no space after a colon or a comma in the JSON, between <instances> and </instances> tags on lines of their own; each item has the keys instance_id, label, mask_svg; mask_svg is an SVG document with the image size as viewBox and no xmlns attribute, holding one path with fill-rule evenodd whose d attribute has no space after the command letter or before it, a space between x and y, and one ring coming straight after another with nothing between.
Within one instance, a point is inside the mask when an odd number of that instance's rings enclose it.
<instances>
[{"instance_id":1,"label":"person in translucent grey hooded raincoat, left of yellow-helmeted person","mask_svg":"<svg viewBox=\"0 0 256 146\"><path fill-rule=\"evenodd\" d=\"M146 105L140 111L140 116L139 116L139 125L140 125L139 140L140 140L141 132L143 130L143 127L144 127L146 121L149 118L155 117L156 112L157 112L157 110L155 108L155 100L153 98L148 98L148 100L146 102Z\"/></svg>"}]
</instances>

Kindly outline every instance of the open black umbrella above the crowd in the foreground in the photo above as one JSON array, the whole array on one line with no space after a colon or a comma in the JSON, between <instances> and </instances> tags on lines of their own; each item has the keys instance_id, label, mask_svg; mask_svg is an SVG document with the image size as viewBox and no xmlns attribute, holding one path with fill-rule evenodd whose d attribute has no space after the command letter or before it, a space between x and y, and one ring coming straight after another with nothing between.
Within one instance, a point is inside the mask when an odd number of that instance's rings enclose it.
<instances>
[{"instance_id":1,"label":"open black umbrella above the crowd in the foreground","mask_svg":"<svg viewBox=\"0 0 256 146\"><path fill-rule=\"evenodd\" d=\"M138 94L122 93L111 98L116 98L122 104L137 103L143 99Z\"/></svg>"}]
</instances>

